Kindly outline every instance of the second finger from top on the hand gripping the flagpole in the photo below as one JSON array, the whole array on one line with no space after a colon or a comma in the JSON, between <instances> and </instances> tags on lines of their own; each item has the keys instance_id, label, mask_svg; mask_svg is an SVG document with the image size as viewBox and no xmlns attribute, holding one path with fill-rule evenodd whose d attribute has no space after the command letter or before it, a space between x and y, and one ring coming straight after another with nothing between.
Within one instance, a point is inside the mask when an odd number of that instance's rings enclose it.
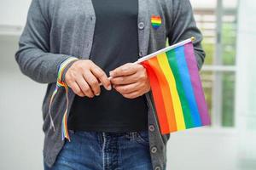
<instances>
[{"instance_id":1,"label":"second finger from top on the hand gripping the flagpole","mask_svg":"<svg viewBox=\"0 0 256 170\"><path fill-rule=\"evenodd\" d=\"M125 77L113 77L110 81L113 85L125 85L135 83L139 80L138 74L135 73Z\"/></svg>"}]
</instances>

